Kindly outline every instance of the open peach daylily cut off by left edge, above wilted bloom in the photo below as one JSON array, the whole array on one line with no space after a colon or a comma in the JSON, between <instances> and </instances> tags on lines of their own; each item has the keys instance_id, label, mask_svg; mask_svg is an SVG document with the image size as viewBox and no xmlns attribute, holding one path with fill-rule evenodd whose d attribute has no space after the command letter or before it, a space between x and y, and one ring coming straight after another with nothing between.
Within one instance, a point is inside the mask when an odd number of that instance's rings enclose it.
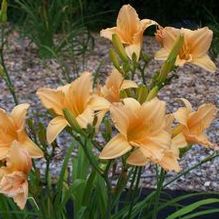
<instances>
[{"instance_id":1,"label":"open peach daylily cut off by left edge, above wilted bloom","mask_svg":"<svg viewBox=\"0 0 219 219\"><path fill-rule=\"evenodd\" d=\"M10 114L0 109L0 160L6 158L14 140L18 141L31 157L43 157L43 152L25 132L28 108L29 104L20 104L14 107Z\"/></svg>"}]
</instances>

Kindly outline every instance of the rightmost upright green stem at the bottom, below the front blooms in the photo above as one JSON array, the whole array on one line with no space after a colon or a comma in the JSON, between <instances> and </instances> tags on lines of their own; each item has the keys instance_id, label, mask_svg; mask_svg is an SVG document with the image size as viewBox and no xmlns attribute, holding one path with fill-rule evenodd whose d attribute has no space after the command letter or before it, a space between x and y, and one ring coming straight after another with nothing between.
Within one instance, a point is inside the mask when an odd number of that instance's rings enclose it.
<instances>
[{"instance_id":1,"label":"rightmost upright green stem at the bottom, below the front blooms","mask_svg":"<svg viewBox=\"0 0 219 219\"><path fill-rule=\"evenodd\" d=\"M155 202L154 202L154 210L153 210L153 219L157 219L158 213L158 204L160 199L160 193L163 187L163 182L165 179L166 172L161 169L159 176L157 176L157 191L155 193Z\"/></svg>"}]
</instances>

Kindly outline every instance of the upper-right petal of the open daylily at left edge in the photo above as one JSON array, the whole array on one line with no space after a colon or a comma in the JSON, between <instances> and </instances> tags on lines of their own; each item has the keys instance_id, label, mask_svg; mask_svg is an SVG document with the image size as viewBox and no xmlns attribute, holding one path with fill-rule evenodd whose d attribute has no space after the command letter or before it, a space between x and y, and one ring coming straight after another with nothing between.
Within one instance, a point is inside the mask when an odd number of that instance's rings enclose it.
<instances>
[{"instance_id":1,"label":"upper-right petal of the open daylily at left edge","mask_svg":"<svg viewBox=\"0 0 219 219\"><path fill-rule=\"evenodd\" d=\"M12 110L11 117L13 118L13 121L18 129L24 128L25 118L29 107L29 104L23 103L15 106Z\"/></svg>"}]
</instances>

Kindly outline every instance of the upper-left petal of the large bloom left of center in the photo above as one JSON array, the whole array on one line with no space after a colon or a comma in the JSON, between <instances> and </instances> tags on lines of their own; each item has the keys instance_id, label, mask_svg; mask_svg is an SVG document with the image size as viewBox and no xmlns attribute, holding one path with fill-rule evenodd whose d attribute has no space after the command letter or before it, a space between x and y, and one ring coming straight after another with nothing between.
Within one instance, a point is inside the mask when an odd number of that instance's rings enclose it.
<instances>
[{"instance_id":1,"label":"upper-left petal of the large bloom left of center","mask_svg":"<svg viewBox=\"0 0 219 219\"><path fill-rule=\"evenodd\" d=\"M37 96L47 109L53 109L57 115L63 114L64 93L61 90L40 88L37 90Z\"/></svg>"}]
</instances>

